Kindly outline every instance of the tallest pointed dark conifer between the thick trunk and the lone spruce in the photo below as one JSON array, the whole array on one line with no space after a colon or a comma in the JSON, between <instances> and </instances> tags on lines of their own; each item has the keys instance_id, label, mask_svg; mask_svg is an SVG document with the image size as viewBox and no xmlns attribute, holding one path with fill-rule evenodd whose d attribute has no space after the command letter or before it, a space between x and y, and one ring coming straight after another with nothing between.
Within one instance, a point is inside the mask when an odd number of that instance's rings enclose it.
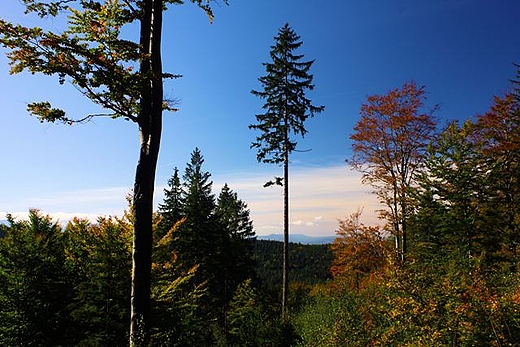
<instances>
[{"instance_id":1,"label":"tallest pointed dark conifer between the thick trunk and the lone spruce","mask_svg":"<svg viewBox=\"0 0 520 347\"><path fill-rule=\"evenodd\" d=\"M226 245L229 237L215 214L217 205L212 193L211 174L203 170L203 164L204 158L196 148L183 176L185 220L177 232L176 250L185 271L197 266L194 281L196 284L205 283L207 289L200 312L207 321L212 321L206 333L220 338L225 332L225 274L229 267ZM208 339L213 338L208 336Z\"/></svg>"}]
</instances>

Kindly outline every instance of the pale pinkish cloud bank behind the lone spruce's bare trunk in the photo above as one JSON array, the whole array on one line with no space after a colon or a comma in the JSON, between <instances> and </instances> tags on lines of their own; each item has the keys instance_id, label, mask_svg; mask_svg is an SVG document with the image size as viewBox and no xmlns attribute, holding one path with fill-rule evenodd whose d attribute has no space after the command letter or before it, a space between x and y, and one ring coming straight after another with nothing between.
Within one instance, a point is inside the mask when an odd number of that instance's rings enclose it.
<instances>
[{"instance_id":1,"label":"pale pinkish cloud bank behind the lone spruce's bare trunk","mask_svg":"<svg viewBox=\"0 0 520 347\"><path fill-rule=\"evenodd\" d=\"M283 231L282 187L263 188L263 183L278 172L233 174L226 177L230 188L247 202L258 234ZM363 209L366 224L380 223L376 210L380 208L370 188L361 185L358 172L346 166L294 166L289 177L289 219L292 233L334 235L338 219L344 219ZM223 185L220 177L215 188Z\"/></svg>"}]
</instances>

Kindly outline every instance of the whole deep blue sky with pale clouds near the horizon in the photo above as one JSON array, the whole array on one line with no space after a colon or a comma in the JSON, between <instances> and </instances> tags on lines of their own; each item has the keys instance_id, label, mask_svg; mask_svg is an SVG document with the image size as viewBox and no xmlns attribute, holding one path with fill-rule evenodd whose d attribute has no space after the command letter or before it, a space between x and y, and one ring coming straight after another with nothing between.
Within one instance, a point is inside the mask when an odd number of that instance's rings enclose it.
<instances>
[{"instance_id":1,"label":"whole deep blue sky with pale clouds near the horizon","mask_svg":"<svg viewBox=\"0 0 520 347\"><path fill-rule=\"evenodd\" d=\"M18 0L3 0L0 16L27 18ZM246 201L258 234L282 228L282 192L262 188L281 168L259 164L248 129L261 112L260 88L269 49L288 22L315 59L315 90L309 97L325 111L307 122L309 133L291 163L291 232L333 235L337 219L364 208L376 222L369 188L344 160L349 135L368 95L414 80L426 86L427 105L440 105L440 124L485 112L494 95L510 90L513 62L520 63L520 2L517 0L230 0L215 7L215 20L194 5L165 14L164 69L183 78L165 85L180 111L164 115L156 201L173 167L183 169L195 147L205 157L215 191L227 182ZM54 77L10 76L0 56L3 148L0 219L6 212L40 208L60 220L72 215L120 214L133 183L138 134L123 120L96 119L72 127L40 124L26 104L49 100L71 115L96 110L70 85Z\"/></svg>"}]
</instances>

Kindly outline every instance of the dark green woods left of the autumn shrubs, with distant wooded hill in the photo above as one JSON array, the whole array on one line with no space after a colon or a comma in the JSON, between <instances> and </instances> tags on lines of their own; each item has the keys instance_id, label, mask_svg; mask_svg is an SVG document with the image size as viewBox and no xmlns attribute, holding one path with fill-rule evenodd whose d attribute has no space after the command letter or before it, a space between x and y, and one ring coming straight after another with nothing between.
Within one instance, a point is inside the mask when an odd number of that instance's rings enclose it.
<instances>
[{"instance_id":1,"label":"dark green woods left of the autumn shrubs, with distant wooded hill","mask_svg":"<svg viewBox=\"0 0 520 347\"><path fill-rule=\"evenodd\" d=\"M203 162L195 149L182 177L174 169L155 216L152 345L284 345L282 243L256 240L247 205L227 185L215 198ZM131 218L63 226L38 210L9 216L0 225L0 344L127 345ZM327 245L291 244L294 305L327 280L331 260Z\"/></svg>"}]
</instances>

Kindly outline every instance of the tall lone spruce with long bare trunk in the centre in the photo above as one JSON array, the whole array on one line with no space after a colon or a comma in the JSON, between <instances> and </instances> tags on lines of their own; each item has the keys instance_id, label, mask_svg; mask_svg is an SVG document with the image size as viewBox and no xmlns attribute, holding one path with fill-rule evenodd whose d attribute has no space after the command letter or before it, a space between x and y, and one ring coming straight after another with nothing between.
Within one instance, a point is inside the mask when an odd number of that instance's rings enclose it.
<instances>
[{"instance_id":1,"label":"tall lone spruce with long bare trunk in the centre","mask_svg":"<svg viewBox=\"0 0 520 347\"><path fill-rule=\"evenodd\" d=\"M264 113L256 115L256 124L250 129L259 130L261 134L252 143L256 148L257 160L263 163L283 164L283 182L281 177L267 182L284 187L284 247L283 247L283 283L282 283L282 317L287 310L287 289L289 269L289 155L296 150L294 136L305 136L307 130L304 123L309 117L323 111L324 106L314 106L305 95L313 90L313 75L309 70L314 60L302 61L304 55L295 54L302 45L300 36L285 24L275 36L275 45L271 46L272 62L264 63L266 75L258 80L263 90L252 90L251 93L265 99Z\"/></svg>"}]
</instances>

